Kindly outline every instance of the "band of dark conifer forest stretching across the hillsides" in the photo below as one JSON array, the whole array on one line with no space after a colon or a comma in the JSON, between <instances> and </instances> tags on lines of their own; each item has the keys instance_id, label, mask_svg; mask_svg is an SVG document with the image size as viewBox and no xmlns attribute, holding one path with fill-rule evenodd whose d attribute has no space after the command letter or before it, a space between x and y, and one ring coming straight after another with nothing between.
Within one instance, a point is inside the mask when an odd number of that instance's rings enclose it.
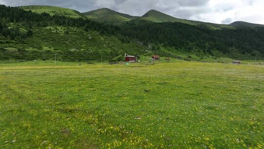
<instances>
[{"instance_id":1,"label":"band of dark conifer forest stretching across the hillsides","mask_svg":"<svg viewBox=\"0 0 264 149\"><path fill-rule=\"evenodd\" d=\"M9 23L26 26L26 32L19 27L9 27ZM18 7L0 5L0 34L10 39L27 38L33 35L32 26L62 25L81 27L85 31L95 30L101 34L114 35L122 42L136 39L145 45L154 44L175 47L189 52L199 51L212 54L212 50L230 53L234 50L242 54L264 57L264 27L240 27L210 29L206 26L182 23L152 23L131 21L121 26L98 23L89 19L69 18L47 13L34 13Z\"/></svg>"}]
</instances>

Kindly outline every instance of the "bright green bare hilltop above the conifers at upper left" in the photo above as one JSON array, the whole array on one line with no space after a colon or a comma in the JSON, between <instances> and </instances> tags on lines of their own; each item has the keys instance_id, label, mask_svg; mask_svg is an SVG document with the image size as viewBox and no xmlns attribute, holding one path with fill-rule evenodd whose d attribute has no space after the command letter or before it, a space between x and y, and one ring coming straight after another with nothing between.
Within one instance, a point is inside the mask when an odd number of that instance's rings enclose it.
<instances>
[{"instance_id":1,"label":"bright green bare hilltop above the conifers at upper left","mask_svg":"<svg viewBox=\"0 0 264 149\"><path fill-rule=\"evenodd\" d=\"M62 7L55 7L55 6L41 6L41 5L29 5L29 6L21 6L19 8L22 8L26 11L31 10L32 12L36 13L48 13L50 15L60 15L60 16L66 16L71 18L84 18L86 17L80 13L77 10L72 10L68 8L62 8Z\"/></svg>"}]
</instances>

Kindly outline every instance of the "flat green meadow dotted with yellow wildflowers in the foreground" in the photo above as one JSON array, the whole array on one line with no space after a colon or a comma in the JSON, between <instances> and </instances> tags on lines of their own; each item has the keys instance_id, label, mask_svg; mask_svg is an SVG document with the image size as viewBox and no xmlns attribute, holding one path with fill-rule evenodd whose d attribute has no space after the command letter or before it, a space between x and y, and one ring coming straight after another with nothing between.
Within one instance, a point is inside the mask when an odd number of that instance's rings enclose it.
<instances>
[{"instance_id":1,"label":"flat green meadow dotted with yellow wildflowers in the foreground","mask_svg":"<svg viewBox=\"0 0 264 149\"><path fill-rule=\"evenodd\" d=\"M0 149L263 149L264 65L0 64Z\"/></svg>"}]
</instances>

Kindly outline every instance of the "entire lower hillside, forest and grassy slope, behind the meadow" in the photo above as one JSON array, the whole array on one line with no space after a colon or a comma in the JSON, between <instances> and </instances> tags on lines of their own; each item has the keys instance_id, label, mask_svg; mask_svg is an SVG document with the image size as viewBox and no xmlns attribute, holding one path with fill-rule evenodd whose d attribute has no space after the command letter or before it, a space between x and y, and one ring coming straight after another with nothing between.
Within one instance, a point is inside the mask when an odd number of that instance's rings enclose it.
<instances>
[{"instance_id":1,"label":"entire lower hillside, forest and grassy slope, behind the meadow","mask_svg":"<svg viewBox=\"0 0 264 149\"><path fill-rule=\"evenodd\" d=\"M0 59L122 60L123 54L236 59L264 58L264 27L211 29L204 25L132 19L109 25L0 5Z\"/></svg>"}]
</instances>

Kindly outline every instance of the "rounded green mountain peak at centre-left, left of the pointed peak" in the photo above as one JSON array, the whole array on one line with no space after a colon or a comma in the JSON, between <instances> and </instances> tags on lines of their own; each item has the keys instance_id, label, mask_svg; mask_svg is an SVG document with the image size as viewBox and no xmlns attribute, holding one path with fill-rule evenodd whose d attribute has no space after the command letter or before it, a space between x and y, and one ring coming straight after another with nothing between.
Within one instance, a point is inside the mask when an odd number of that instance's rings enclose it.
<instances>
[{"instance_id":1,"label":"rounded green mountain peak at centre-left, left of the pointed peak","mask_svg":"<svg viewBox=\"0 0 264 149\"><path fill-rule=\"evenodd\" d=\"M110 24L122 24L127 21L131 21L134 17L128 14L119 13L108 8L101 8L97 10L92 10L82 13L88 19L97 21L97 22L107 22Z\"/></svg>"}]
</instances>

